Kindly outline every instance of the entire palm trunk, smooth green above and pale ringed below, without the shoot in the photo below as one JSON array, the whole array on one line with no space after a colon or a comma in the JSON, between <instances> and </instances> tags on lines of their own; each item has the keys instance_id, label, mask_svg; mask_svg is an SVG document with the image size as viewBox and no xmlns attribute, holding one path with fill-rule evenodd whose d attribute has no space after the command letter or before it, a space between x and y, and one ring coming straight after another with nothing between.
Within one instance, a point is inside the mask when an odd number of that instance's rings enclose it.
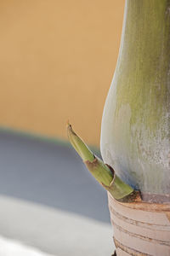
<instances>
[{"instance_id":1,"label":"entire palm trunk, smooth green above and pale ringed below, without the shoot","mask_svg":"<svg viewBox=\"0 0 170 256\"><path fill-rule=\"evenodd\" d=\"M117 255L170 255L170 1L127 0L101 154L142 202L109 196Z\"/></svg>"}]
</instances>

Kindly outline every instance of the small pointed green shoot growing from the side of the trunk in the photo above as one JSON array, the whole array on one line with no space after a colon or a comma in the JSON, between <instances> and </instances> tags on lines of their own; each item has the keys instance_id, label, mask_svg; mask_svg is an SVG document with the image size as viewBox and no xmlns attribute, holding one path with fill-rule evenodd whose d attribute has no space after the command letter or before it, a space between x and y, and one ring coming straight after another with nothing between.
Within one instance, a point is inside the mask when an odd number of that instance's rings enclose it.
<instances>
[{"instance_id":1,"label":"small pointed green shoot growing from the side of the trunk","mask_svg":"<svg viewBox=\"0 0 170 256\"><path fill-rule=\"evenodd\" d=\"M128 198L129 201L129 198L135 197L131 196L134 195L133 188L122 182L122 180L116 176L111 166L106 165L93 154L86 143L82 141L82 138L78 137L76 132L73 131L69 123L67 125L67 135L72 147L75 148L80 155L82 161L88 167L89 172L91 172L96 180L102 184L116 200L124 201L125 198Z\"/></svg>"}]
</instances>

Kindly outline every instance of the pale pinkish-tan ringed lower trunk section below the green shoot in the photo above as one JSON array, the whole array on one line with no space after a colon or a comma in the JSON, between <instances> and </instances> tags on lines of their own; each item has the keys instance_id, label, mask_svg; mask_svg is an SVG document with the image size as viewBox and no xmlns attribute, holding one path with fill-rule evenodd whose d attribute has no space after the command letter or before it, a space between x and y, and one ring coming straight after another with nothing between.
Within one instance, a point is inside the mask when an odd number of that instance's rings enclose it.
<instances>
[{"instance_id":1,"label":"pale pinkish-tan ringed lower trunk section below the green shoot","mask_svg":"<svg viewBox=\"0 0 170 256\"><path fill-rule=\"evenodd\" d=\"M116 256L170 255L170 204L108 199Z\"/></svg>"}]
</instances>

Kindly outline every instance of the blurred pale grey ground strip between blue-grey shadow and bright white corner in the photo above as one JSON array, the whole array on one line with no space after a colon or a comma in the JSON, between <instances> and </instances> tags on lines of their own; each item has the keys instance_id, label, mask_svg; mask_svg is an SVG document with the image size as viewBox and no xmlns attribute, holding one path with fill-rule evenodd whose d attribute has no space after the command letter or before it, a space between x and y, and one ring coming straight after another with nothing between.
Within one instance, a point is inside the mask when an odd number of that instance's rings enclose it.
<instances>
[{"instance_id":1,"label":"blurred pale grey ground strip between blue-grey shadow and bright white corner","mask_svg":"<svg viewBox=\"0 0 170 256\"><path fill-rule=\"evenodd\" d=\"M57 256L110 256L114 251L110 224L7 196L0 196L0 206L4 237Z\"/></svg>"}]
</instances>

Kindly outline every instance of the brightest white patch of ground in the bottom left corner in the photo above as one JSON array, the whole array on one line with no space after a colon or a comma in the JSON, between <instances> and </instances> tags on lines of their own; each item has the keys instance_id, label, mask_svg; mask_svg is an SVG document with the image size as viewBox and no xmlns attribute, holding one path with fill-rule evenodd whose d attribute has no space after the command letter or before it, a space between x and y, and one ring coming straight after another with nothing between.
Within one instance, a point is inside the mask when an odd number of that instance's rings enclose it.
<instances>
[{"instance_id":1,"label":"brightest white patch of ground in the bottom left corner","mask_svg":"<svg viewBox=\"0 0 170 256\"><path fill-rule=\"evenodd\" d=\"M52 256L42 253L36 248L28 247L19 241L0 236L0 256Z\"/></svg>"}]
</instances>

